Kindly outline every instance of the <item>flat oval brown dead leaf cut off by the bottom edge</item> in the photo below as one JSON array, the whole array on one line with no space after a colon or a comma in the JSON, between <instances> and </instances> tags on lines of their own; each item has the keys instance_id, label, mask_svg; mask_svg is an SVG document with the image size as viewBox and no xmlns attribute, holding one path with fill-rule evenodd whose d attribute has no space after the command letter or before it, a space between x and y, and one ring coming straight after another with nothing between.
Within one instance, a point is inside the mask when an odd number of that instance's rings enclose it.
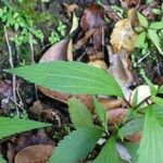
<instances>
[{"instance_id":1,"label":"flat oval brown dead leaf cut off by the bottom edge","mask_svg":"<svg viewBox=\"0 0 163 163\"><path fill-rule=\"evenodd\" d=\"M16 154L15 163L46 163L52 150L49 145L28 146Z\"/></svg>"}]
</instances>

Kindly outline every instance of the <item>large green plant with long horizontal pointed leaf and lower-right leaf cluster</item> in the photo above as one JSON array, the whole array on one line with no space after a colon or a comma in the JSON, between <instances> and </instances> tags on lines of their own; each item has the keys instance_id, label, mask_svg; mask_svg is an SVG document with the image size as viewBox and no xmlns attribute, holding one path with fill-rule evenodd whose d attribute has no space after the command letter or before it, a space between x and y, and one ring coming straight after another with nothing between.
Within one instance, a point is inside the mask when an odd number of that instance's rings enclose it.
<instances>
[{"instance_id":1,"label":"large green plant with long horizontal pointed leaf and lower-right leaf cluster","mask_svg":"<svg viewBox=\"0 0 163 163\"><path fill-rule=\"evenodd\" d=\"M92 96L116 96L125 100L121 87L106 72L84 63L59 61L7 70L5 72L52 90ZM155 87L143 72L141 75L148 84L151 95L137 103L138 93L135 93L134 101L129 104L130 108L122 124L115 124L113 129L108 128L104 109L96 97L93 98L95 111L101 125L93 124L91 114L79 100L70 99L70 116L76 130L61 140L49 162L79 162L88 155L101 137L105 138L106 142L96 158L96 163L101 163L101 161L102 163L124 162L116 150L116 142L120 140L128 150L130 156L128 162L163 162L163 99L158 97L163 92L163 87ZM149 100L150 102L148 102ZM147 104L143 105L145 103ZM140 145L128 143L124 140L126 135L141 129Z\"/></svg>"}]
</instances>

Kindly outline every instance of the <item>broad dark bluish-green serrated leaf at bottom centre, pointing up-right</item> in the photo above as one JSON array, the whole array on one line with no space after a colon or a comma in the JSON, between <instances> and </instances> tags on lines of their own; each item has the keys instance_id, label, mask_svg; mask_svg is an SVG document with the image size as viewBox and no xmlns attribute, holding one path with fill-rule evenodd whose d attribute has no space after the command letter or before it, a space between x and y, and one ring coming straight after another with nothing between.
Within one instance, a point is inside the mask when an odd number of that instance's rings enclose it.
<instances>
[{"instance_id":1,"label":"broad dark bluish-green serrated leaf at bottom centre, pointing up-right","mask_svg":"<svg viewBox=\"0 0 163 163\"><path fill-rule=\"evenodd\" d=\"M98 127L78 128L66 136L53 151L50 163L77 163L95 148L102 135Z\"/></svg>"}]
</instances>

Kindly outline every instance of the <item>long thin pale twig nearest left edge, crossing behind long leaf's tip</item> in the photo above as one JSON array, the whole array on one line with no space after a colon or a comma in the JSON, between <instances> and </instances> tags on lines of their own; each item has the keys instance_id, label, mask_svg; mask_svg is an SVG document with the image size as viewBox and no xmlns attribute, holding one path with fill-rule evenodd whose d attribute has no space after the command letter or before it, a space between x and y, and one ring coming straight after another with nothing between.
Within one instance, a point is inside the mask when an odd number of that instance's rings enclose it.
<instances>
[{"instance_id":1,"label":"long thin pale twig nearest left edge, crossing behind long leaf's tip","mask_svg":"<svg viewBox=\"0 0 163 163\"><path fill-rule=\"evenodd\" d=\"M14 68L13 59L12 59L12 51L11 51L11 46L10 46L10 41L9 41L7 27L3 26L3 28L4 28L5 41L7 41L8 51L9 51L9 63L10 63L11 68ZM17 101L17 99L16 99L16 77L15 77L15 75L12 75L12 89L13 89L13 99L14 99L14 101ZM18 110L17 106L16 106L16 114L20 117L20 110Z\"/></svg>"}]
</instances>

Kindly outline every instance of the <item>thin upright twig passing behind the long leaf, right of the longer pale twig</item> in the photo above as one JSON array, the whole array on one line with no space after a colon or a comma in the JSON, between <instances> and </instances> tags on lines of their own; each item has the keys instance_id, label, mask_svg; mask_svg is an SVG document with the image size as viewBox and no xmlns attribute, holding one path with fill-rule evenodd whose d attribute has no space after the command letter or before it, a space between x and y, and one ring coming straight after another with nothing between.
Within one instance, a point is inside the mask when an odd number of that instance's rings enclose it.
<instances>
[{"instance_id":1,"label":"thin upright twig passing behind the long leaf, right of the longer pale twig","mask_svg":"<svg viewBox=\"0 0 163 163\"><path fill-rule=\"evenodd\" d=\"M32 60L32 63L35 63L35 52L34 52L34 45L33 45L33 36L32 36L30 33L29 33L29 46L30 46L30 60ZM35 85L35 96L36 96L36 99L38 99L37 86L36 85Z\"/></svg>"}]
</instances>

